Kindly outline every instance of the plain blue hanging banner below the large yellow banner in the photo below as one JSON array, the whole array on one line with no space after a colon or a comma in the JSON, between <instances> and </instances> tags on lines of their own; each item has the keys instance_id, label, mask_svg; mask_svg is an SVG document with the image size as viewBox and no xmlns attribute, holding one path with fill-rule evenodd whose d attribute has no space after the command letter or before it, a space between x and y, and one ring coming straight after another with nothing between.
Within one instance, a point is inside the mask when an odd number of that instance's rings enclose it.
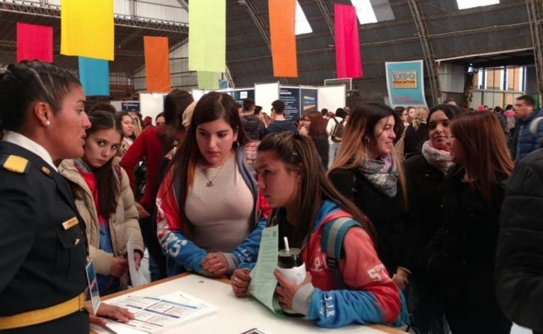
<instances>
[{"instance_id":1,"label":"plain blue hanging banner below the large yellow banner","mask_svg":"<svg viewBox=\"0 0 543 334\"><path fill-rule=\"evenodd\" d=\"M110 64L107 60L79 57L79 81L87 96L110 95Z\"/></svg>"}]
</instances>

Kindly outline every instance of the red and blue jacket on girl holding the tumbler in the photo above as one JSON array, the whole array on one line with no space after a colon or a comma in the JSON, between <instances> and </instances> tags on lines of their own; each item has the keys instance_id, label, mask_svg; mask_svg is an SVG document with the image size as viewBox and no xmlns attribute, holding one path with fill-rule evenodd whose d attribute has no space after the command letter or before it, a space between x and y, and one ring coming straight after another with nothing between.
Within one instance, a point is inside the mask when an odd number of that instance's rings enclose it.
<instances>
[{"instance_id":1,"label":"red and blue jacket on girl holding the tumbler","mask_svg":"<svg viewBox=\"0 0 543 334\"><path fill-rule=\"evenodd\" d=\"M286 214L281 209L277 213ZM302 258L313 278L314 289L303 285L293 304L309 294L308 318L321 327L392 323L399 315L399 292L379 260L373 241L362 228L353 227L345 234L346 255L338 264L346 288L338 290L332 269L327 266L327 254L321 249L321 237L322 227L339 217L351 215L330 201L322 203L310 239L302 247Z\"/></svg>"}]
</instances>

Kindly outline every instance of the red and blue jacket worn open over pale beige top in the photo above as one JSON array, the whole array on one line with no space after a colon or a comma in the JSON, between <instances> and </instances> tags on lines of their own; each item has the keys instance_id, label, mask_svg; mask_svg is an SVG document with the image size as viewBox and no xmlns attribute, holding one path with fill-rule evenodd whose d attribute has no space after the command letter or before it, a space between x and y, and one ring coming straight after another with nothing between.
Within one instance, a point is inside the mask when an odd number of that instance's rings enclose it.
<instances>
[{"instance_id":1,"label":"red and blue jacket worn open over pale beige top","mask_svg":"<svg viewBox=\"0 0 543 334\"><path fill-rule=\"evenodd\" d=\"M255 263L258 256L260 238L262 237L262 229L266 225L265 213L264 216L260 216L262 206L261 202L258 201L257 182L247 167L243 147L237 150L236 162L238 170L252 192L254 199L255 204L252 215L255 217L255 229L247 235L238 247L230 251L230 253L225 254L229 260L229 269L230 261L234 261L233 265L237 268L244 268L246 266L245 263ZM188 237L189 231L185 230L185 223L179 213L177 195L175 193L178 189L175 187L175 179L173 178L172 171L173 168L170 168L165 174L156 197L158 241L166 256L168 275L175 275L184 270L202 273L200 263L206 257L207 252L197 244L194 244Z\"/></svg>"}]
</instances>

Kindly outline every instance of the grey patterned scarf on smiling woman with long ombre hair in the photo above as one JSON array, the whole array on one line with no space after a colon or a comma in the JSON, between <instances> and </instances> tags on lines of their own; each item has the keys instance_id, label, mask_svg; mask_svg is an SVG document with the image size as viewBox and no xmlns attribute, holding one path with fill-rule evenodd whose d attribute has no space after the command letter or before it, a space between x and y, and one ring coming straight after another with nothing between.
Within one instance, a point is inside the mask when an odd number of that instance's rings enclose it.
<instances>
[{"instance_id":1,"label":"grey patterned scarf on smiling woman with long ombre hair","mask_svg":"<svg viewBox=\"0 0 543 334\"><path fill-rule=\"evenodd\" d=\"M384 193L390 198L396 196L398 170L392 155L384 155L378 157L377 160L368 159L358 169L380 193Z\"/></svg>"}]
</instances>

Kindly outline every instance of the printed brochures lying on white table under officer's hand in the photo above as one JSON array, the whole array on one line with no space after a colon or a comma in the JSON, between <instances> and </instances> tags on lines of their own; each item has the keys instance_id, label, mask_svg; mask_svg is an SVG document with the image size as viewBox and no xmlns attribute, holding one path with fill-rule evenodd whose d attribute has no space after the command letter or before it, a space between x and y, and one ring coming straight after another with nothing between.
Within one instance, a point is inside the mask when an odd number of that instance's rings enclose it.
<instances>
[{"instance_id":1,"label":"printed brochures lying on white table under officer's hand","mask_svg":"<svg viewBox=\"0 0 543 334\"><path fill-rule=\"evenodd\" d=\"M213 304L181 291L160 297L129 295L108 303L129 309L136 318L128 323L108 320L106 328L93 326L93 330L98 333L163 333L183 323L213 314L218 309Z\"/></svg>"}]
</instances>

